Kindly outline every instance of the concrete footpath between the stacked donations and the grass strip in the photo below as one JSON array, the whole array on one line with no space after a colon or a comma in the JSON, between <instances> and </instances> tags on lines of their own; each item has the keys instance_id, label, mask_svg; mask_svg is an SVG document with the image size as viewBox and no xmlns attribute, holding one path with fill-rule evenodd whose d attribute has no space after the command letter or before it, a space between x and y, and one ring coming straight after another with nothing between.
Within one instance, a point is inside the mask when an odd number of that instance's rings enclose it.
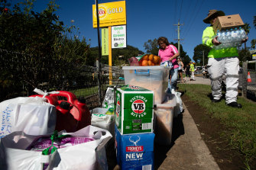
<instances>
[{"instance_id":1,"label":"concrete footpath between the stacked donations and the grass strip","mask_svg":"<svg viewBox=\"0 0 256 170\"><path fill-rule=\"evenodd\" d=\"M210 85L209 79L196 76L196 81L186 81L186 84L204 84ZM180 82L179 82L180 83ZM162 156L163 159L157 169L190 169L190 170L218 170L219 165L215 162L211 152L209 152L206 143L204 143L196 123L183 104L184 112L180 117L173 120L174 143L170 148L166 148L166 155L161 155L164 146L156 146L155 156ZM177 132L178 131L178 132ZM177 138L177 139L175 139ZM156 160L156 159L155 159Z\"/></svg>"}]
</instances>

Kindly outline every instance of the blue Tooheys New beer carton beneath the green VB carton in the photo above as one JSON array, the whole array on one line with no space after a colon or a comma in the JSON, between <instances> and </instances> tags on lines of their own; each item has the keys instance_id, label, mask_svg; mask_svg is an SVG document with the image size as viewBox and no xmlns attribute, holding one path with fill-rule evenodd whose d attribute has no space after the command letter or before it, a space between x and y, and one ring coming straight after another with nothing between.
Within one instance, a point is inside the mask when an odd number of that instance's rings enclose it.
<instances>
[{"instance_id":1,"label":"blue Tooheys New beer carton beneath the green VB carton","mask_svg":"<svg viewBox=\"0 0 256 170\"><path fill-rule=\"evenodd\" d=\"M122 169L154 169L154 133L121 135L115 126L115 149Z\"/></svg>"}]
</instances>

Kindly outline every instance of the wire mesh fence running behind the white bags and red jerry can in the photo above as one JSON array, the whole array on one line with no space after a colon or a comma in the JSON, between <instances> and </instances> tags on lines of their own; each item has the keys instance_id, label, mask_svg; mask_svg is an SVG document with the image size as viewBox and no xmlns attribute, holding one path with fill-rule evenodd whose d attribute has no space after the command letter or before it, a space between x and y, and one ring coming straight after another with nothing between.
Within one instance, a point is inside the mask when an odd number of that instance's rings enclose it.
<instances>
[{"instance_id":1,"label":"wire mesh fence running behind the white bags and red jerry can","mask_svg":"<svg viewBox=\"0 0 256 170\"><path fill-rule=\"evenodd\" d=\"M31 66L36 63L29 63L34 59L32 57L24 53L0 50L0 102L33 95L34 88L39 88L44 91L71 91L92 109L101 106L105 90L109 86L124 84L124 81L119 79L124 77L122 69L115 66L102 63L96 63L96 66L82 66L79 63L71 63L61 67L59 63L53 65L49 62L41 63L40 66L45 67L37 69L36 66ZM37 74L34 73L36 70L39 70ZM31 85L28 81L31 79L31 82L36 82L33 80L35 75L41 75L42 79Z\"/></svg>"}]
</instances>

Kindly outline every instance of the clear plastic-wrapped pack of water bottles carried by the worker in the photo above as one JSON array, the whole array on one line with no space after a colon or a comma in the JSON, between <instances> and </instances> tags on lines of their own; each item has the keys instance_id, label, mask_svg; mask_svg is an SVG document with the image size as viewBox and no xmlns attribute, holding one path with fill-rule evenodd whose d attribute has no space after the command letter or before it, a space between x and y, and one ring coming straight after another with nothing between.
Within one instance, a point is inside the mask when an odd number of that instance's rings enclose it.
<instances>
[{"instance_id":1,"label":"clear plastic-wrapped pack of water bottles carried by the worker","mask_svg":"<svg viewBox=\"0 0 256 170\"><path fill-rule=\"evenodd\" d=\"M247 35L245 33L245 30L241 27L230 30L221 30L217 32L216 35L221 42L219 46L214 46L216 50L219 49L226 49L226 48L232 48L232 47L240 47L241 46L241 40L245 40Z\"/></svg>"}]
</instances>

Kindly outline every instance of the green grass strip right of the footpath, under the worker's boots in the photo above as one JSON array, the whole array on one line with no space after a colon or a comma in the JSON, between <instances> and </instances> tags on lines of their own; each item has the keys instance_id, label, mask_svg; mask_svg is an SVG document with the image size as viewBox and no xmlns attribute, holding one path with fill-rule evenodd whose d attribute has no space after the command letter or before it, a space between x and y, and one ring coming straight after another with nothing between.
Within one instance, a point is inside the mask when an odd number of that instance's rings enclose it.
<instances>
[{"instance_id":1,"label":"green grass strip right of the footpath, under the worker's boots","mask_svg":"<svg viewBox=\"0 0 256 170\"><path fill-rule=\"evenodd\" d=\"M179 91L184 91L192 101L206 108L206 114L218 118L228 128L225 136L230 145L239 149L245 155L245 165L256 159L256 104L254 101L238 97L242 108L233 108L225 105L225 100L212 103L210 85L180 84ZM225 92L222 91L224 94Z\"/></svg>"}]
</instances>

